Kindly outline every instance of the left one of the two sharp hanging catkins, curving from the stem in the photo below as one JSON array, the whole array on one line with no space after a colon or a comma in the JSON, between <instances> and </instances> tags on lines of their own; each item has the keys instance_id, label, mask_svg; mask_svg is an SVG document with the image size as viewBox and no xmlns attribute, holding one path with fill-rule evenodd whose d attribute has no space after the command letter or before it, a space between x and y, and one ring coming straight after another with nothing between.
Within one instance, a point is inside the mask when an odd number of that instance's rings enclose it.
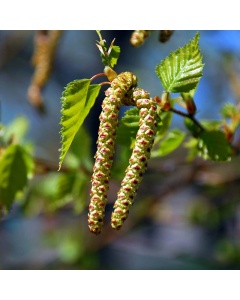
<instances>
[{"instance_id":1,"label":"left one of the two sharp hanging catkins, curving from the stem","mask_svg":"<svg viewBox=\"0 0 240 300\"><path fill-rule=\"evenodd\" d=\"M137 84L137 78L130 72L119 74L105 92L100 114L97 152L93 167L91 200L89 204L88 226L92 233L99 234L103 226L110 170L113 162L118 114L121 101L126 93Z\"/></svg>"}]
</instances>

